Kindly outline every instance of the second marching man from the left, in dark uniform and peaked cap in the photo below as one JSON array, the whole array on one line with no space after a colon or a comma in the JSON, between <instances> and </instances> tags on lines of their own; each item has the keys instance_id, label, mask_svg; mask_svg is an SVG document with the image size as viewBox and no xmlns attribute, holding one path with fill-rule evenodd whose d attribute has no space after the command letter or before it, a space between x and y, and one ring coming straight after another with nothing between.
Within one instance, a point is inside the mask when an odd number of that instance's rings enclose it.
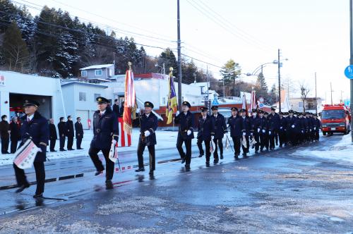
<instances>
[{"instance_id":1,"label":"second marching man from the left, in dark uniform and peaked cap","mask_svg":"<svg viewBox=\"0 0 353 234\"><path fill-rule=\"evenodd\" d=\"M93 139L90 143L88 154L97 169L95 176L98 176L104 171L102 161L100 161L98 157L98 152L102 151L107 166L105 172L105 187L112 189L114 162L109 159L109 151L112 144L116 144L119 140L118 118L115 116L112 109L108 108L108 99L97 97L96 101L98 110L93 114Z\"/></svg>"}]
</instances>

